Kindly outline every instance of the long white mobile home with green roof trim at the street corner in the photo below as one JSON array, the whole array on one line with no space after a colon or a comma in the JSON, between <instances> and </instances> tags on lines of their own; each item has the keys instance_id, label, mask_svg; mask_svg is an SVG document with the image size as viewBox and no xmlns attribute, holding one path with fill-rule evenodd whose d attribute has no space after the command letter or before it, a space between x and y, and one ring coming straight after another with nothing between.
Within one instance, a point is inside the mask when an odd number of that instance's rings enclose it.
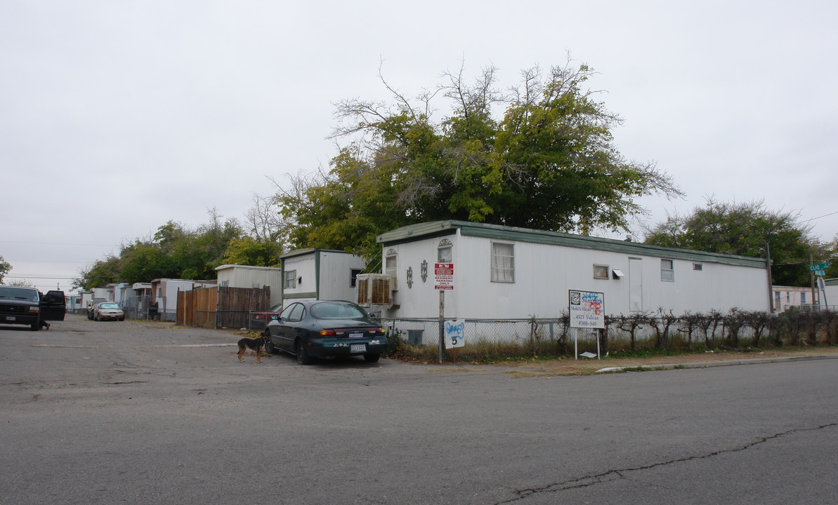
<instances>
[{"instance_id":1,"label":"long white mobile home with green roof trim at the street corner","mask_svg":"<svg viewBox=\"0 0 838 505\"><path fill-rule=\"evenodd\" d=\"M462 221L402 227L377 237L395 278L383 317L439 316L434 264L453 263L445 317L558 317L568 291L604 293L610 315L769 310L766 260L608 238Z\"/></svg>"}]
</instances>

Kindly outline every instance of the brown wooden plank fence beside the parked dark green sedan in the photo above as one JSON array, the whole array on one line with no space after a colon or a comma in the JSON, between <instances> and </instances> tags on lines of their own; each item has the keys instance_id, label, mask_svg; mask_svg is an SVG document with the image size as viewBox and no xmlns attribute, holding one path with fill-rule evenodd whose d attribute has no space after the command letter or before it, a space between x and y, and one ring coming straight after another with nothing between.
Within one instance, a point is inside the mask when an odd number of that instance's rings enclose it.
<instances>
[{"instance_id":1,"label":"brown wooden plank fence beside the parked dark green sedan","mask_svg":"<svg viewBox=\"0 0 838 505\"><path fill-rule=\"evenodd\" d=\"M200 328L247 328L252 310L267 310L271 288L199 288L178 291L176 322Z\"/></svg>"}]
</instances>

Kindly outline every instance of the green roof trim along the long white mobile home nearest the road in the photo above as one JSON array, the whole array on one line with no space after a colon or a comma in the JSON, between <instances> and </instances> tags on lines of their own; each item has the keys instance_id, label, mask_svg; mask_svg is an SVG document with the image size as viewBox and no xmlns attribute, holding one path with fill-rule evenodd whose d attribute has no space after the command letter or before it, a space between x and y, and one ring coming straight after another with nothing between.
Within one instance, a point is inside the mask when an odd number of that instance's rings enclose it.
<instances>
[{"instance_id":1,"label":"green roof trim along the long white mobile home nearest the road","mask_svg":"<svg viewBox=\"0 0 838 505\"><path fill-rule=\"evenodd\" d=\"M763 258L749 258L747 256L724 254L722 252L692 251L690 249L677 249L675 247L653 246L640 242L626 242L613 238L586 237L571 233L546 232L543 230L530 230L529 228L504 227L495 224L455 220L422 222L420 224L397 228L396 230L380 234L378 237L375 237L375 241L380 243L382 247L387 247L398 243L453 235L458 230L461 235L467 237L551 244L597 251L620 252L629 255L653 256L655 258L683 259L696 263L722 263L740 267L766 268L765 259Z\"/></svg>"}]
</instances>

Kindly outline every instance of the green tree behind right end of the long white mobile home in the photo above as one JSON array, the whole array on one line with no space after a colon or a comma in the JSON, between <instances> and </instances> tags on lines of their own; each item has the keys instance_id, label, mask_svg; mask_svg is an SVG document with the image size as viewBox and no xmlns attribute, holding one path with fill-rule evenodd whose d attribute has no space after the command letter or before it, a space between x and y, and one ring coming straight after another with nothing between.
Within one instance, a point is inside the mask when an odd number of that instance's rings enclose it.
<instances>
[{"instance_id":1,"label":"green tree behind right end of the long white mobile home","mask_svg":"<svg viewBox=\"0 0 838 505\"><path fill-rule=\"evenodd\" d=\"M818 246L792 212L771 211L762 200L719 202L707 198L688 216L673 215L651 228L646 243L772 259L773 283L810 285L810 255Z\"/></svg>"}]
</instances>

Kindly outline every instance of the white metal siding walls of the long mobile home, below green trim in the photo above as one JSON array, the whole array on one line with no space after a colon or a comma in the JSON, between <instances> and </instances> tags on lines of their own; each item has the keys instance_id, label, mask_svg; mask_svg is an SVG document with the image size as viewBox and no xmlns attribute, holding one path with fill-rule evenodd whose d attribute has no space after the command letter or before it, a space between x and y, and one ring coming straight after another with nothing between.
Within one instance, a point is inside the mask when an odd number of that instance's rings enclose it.
<instances>
[{"instance_id":1,"label":"white metal siding walls of the long mobile home, below green trim","mask_svg":"<svg viewBox=\"0 0 838 505\"><path fill-rule=\"evenodd\" d=\"M693 270L692 261L673 260L675 282L660 280L660 257L640 257L629 268L629 255L577 247L532 242L515 243L515 283L493 283L491 242L494 239L459 235L447 236L453 242L454 289L445 294L446 317L473 319L519 319L557 317L567 308L569 289L605 294L608 314L629 314L628 277L613 278L613 269L642 275L643 309L685 311L768 310L768 284L763 268L748 268L720 263L702 263ZM434 289L433 263L436 263L439 238L417 240L384 248L398 254L399 309L387 312L396 317L436 317L439 295ZM498 242L509 241L498 240ZM667 258L668 259L668 258ZM427 282L419 276L422 260L429 263ZM593 265L608 265L608 278L593 278ZM406 270L413 268L413 287L406 285ZM635 279L636 280L636 279Z\"/></svg>"}]
</instances>

